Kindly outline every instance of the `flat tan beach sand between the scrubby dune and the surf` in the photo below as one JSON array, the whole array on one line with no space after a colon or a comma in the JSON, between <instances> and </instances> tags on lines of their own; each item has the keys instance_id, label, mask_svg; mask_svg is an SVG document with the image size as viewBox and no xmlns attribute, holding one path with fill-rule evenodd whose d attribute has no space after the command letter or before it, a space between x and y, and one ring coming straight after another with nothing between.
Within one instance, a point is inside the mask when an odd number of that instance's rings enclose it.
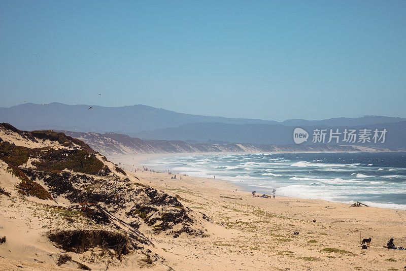
<instances>
[{"instance_id":1,"label":"flat tan beach sand between the scrubby dune and the surf","mask_svg":"<svg viewBox=\"0 0 406 271\"><path fill-rule=\"evenodd\" d=\"M148 157L152 156L110 158L130 171L142 168ZM189 176L180 180L179 175L172 180L167 173L142 170L135 175L177 195L185 207L211 220L206 238L148 236L175 270L403 270L406 266L406 251L383 247L390 238L395 245L406 246L406 211L278 195L253 197L222 180ZM361 249L360 239L369 237L370 247Z\"/></svg>"}]
</instances>

